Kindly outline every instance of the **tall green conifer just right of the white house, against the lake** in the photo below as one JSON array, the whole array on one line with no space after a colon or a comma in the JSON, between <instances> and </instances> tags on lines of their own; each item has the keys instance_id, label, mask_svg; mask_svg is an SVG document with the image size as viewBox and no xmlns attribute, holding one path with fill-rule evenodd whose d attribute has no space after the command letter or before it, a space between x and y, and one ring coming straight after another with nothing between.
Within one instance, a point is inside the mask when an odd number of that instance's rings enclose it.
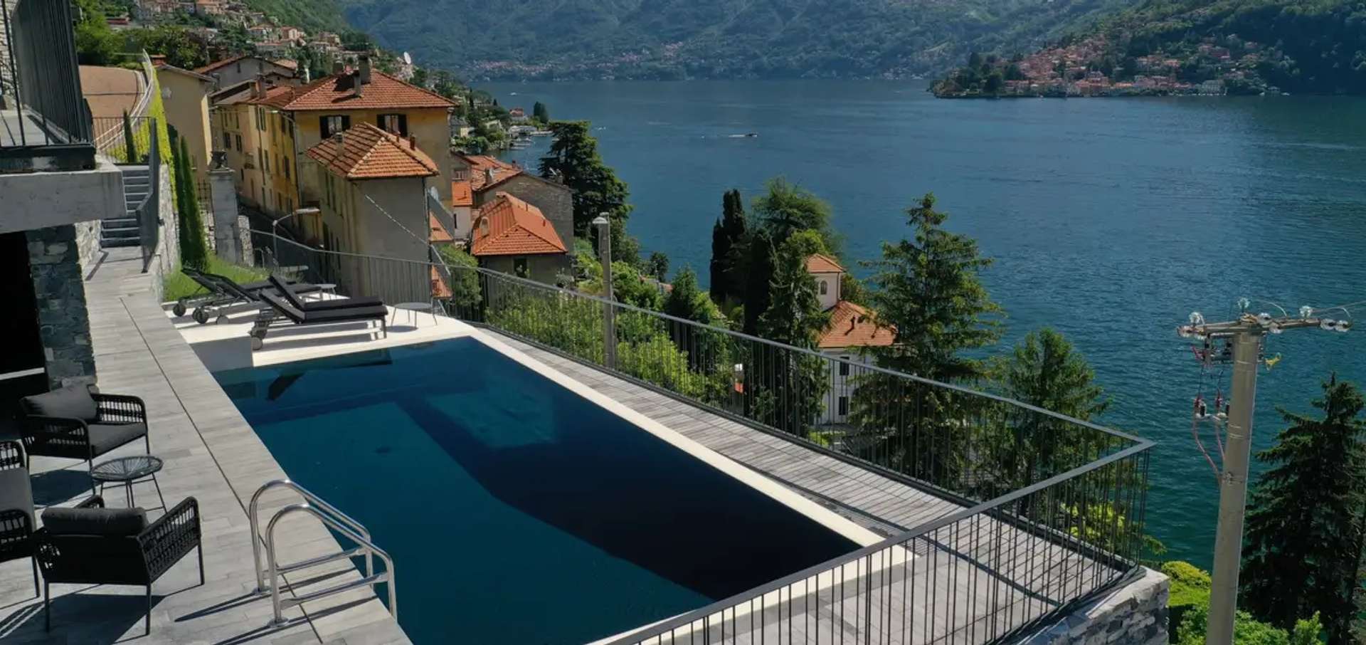
<instances>
[{"instance_id":1,"label":"tall green conifer just right of the white house, against the lake","mask_svg":"<svg viewBox=\"0 0 1366 645\"><path fill-rule=\"evenodd\" d=\"M934 210L934 194L906 210L910 239L882 243L874 269L873 307L895 328L896 342L876 350L877 363L937 381L973 381L986 376L981 359L964 355L996 343L1001 307L992 302L978 271L992 265L967 235L944 230L948 213Z\"/></svg>"}]
</instances>

